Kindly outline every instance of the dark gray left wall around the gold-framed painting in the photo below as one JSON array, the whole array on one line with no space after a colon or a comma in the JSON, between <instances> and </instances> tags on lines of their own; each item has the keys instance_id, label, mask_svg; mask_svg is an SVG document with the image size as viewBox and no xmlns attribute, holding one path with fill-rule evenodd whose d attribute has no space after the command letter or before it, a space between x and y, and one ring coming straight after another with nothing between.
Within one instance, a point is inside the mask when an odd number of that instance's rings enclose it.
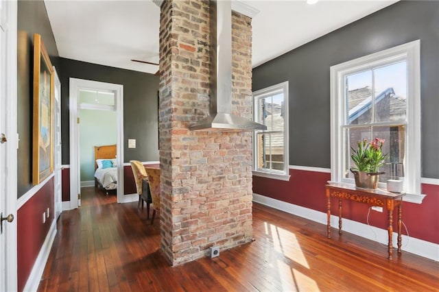
<instances>
[{"instance_id":1,"label":"dark gray left wall around the gold-framed painting","mask_svg":"<svg viewBox=\"0 0 439 292\"><path fill-rule=\"evenodd\" d=\"M43 1L18 1L17 14L17 195L32 188L32 101L34 68L34 33L40 34L52 65L60 74L58 49Z\"/></svg>"}]
</instances>

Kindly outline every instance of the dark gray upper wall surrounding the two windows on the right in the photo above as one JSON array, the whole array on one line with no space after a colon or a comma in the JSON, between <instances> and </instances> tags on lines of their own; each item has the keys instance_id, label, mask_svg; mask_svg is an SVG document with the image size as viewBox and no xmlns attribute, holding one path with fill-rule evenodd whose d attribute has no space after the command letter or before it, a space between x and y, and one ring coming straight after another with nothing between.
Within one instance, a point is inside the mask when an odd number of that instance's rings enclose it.
<instances>
[{"instance_id":1,"label":"dark gray upper wall surrounding the two windows on the right","mask_svg":"<svg viewBox=\"0 0 439 292\"><path fill-rule=\"evenodd\" d=\"M331 167L330 66L417 39L422 176L439 178L439 1L400 1L253 69L253 90L289 81L289 165Z\"/></svg>"}]
</instances>

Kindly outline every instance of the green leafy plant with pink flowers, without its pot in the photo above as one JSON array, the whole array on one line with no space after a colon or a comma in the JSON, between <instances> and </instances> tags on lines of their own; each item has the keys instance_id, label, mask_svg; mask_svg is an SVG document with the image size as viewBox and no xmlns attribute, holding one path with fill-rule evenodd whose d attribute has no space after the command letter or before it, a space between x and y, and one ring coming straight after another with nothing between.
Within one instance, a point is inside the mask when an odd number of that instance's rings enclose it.
<instances>
[{"instance_id":1,"label":"green leafy plant with pink flowers, without its pot","mask_svg":"<svg viewBox=\"0 0 439 292\"><path fill-rule=\"evenodd\" d=\"M368 143L367 139L357 143L358 148L352 149L351 158L355 167L351 171L366 171L368 173L377 173L379 168L385 164L388 155L383 154L384 139L375 138Z\"/></svg>"}]
</instances>

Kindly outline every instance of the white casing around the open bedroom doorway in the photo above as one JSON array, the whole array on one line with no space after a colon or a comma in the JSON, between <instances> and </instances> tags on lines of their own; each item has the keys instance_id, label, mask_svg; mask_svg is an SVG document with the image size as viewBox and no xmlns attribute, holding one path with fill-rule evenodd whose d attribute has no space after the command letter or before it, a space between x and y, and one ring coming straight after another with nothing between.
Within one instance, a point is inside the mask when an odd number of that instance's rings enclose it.
<instances>
[{"instance_id":1,"label":"white casing around the open bedroom doorway","mask_svg":"<svg viewBox=\"0 0 439 292\"><path fill-rule=\"evenodd\" d=\"M115 94L117 124L117 202L123 202L123 85L92 80L70 78L70 208L78 208L80 202L80 135L78 124L78 97L80 90L107 90Z\"/></svg>"}]
</instances>

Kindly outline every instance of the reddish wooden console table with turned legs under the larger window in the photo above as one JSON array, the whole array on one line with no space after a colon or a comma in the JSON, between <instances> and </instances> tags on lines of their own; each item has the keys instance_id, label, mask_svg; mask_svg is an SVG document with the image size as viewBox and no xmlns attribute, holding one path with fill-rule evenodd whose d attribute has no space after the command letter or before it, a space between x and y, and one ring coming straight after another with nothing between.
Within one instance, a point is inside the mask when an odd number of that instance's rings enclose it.
<instances>
[{"instance_id":1,"label":"reddish wooden console table with turned legs under the larger window","mask_svg":"<svg viewBox=\"0 0 439 292\"><path fill-rule=\"evenodd\" d=\"M368 204L369 206L379 206L388 211L388 259L392 259L392 233L393 233L393 210L398 206L398 254L401 254L401 217L403 196L405 193L390 193L379 188L370 190L366 188L356 188L351 184L327 184L326 193L328 199L328 238L331 238L331 197L338 198L338 233L342 234L342 200L348 199L354 202Z\"/></svg>"}]
</instances>

